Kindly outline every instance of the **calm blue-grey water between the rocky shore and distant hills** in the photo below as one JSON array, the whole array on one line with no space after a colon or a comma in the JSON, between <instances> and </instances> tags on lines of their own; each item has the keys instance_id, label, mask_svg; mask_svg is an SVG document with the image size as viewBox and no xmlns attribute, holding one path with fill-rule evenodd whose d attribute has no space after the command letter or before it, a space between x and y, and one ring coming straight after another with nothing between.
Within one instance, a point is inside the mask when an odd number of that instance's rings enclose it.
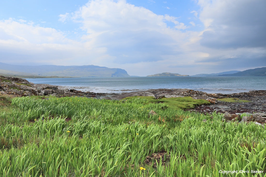
<instances>
[{"instance_id":1,"label":"calm blue-grey water between the rocky shore and distant hills","mask_svg":"<svg viewBox=\"0 0 266 177\"><path fill-rule=\"evenodd\" d=\"M102 93L173 88L224 94L266 90L266 77L87 77L27 80L36 84L57 85L59 88Z\"/></svg>"}]
</instances>

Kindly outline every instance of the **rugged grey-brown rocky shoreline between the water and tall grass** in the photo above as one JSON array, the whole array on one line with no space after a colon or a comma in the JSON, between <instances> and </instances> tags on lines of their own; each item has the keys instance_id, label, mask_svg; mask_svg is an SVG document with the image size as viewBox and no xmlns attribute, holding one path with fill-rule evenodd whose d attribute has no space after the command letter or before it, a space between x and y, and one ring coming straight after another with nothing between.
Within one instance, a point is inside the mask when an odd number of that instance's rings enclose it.
<instances>
[{"instance_id":1,"label":"rugged grey-brown rocky shoreline between the water and tall grass","mask_svg":"<svg viewBox=\"0 0 266 177\"><path fill-rule=\"evenodd\" d=\"M266 90L254 90L249 92L234 94L210 94L202 91L190 89L152 89L145 91L117 93L95 93L83 92L75 89L58 89L57 86L49 84L34 84L26 79L0 76L0 95L30 96L30 95L53 95L63 96L86 96L98 99L123 99L128 96L153 96L158 98L172 98L191 96L194 99L208 100L211 105L202 105L188 111L200 113L220 113L240 114L240 113L266 113ZM219 101L219 98L237 98L248 100L250 102L225 102Z\"/></svg>"}]
</instances>

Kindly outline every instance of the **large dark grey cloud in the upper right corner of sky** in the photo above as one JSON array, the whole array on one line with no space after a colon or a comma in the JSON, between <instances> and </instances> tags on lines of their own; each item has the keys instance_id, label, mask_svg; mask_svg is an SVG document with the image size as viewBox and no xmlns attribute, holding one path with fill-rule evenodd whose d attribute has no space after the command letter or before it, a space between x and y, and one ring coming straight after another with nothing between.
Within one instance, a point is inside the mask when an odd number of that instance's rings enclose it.
<instances>
[{"instance_id":1,"label":"large dark grey cloud in the upper right corner of sky","mask_svg":"<svg viewBox=\"0 0 266 177\"><path fill-rule=\"evenodd\" d=\"M220 3L218 3L220 2ZM266 1L214 1L201 20L212 19L201 45L210 48L266 47Z\"/></svg>"}]
</instances>

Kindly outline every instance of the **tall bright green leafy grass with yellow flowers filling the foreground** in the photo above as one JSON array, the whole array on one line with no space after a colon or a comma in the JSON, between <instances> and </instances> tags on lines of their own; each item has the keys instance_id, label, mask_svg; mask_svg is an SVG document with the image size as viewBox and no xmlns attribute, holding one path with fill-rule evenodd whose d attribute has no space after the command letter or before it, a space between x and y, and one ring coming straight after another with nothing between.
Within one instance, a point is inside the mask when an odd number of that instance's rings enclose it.
<instances>
[{"instance_id":1,"label":"tall bright green leafy grass with yellow flowers filling the foreground","mask_svg":"<svg viewBox=\"0 0 266 177\"><path fill-rule=\"evenodd\" d=\"M171 107L0 96L0 176L265 176L264 128Z\"/></svg>"}]
</instances>

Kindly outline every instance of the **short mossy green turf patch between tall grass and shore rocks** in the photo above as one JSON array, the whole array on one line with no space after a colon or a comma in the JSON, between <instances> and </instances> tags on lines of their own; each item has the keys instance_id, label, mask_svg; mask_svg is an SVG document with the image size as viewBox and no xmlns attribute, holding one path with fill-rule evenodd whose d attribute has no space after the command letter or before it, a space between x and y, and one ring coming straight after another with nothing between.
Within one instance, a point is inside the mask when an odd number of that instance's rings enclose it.
<instances>
[{"instance_id":1,"label":"short mossy green turf patch between tall grass and shore rocks","mask_svg":"<svg viewBox=\"0 0 266 177\"><path fill-rule=\"evenodd\" d=\"M200 106L200 105L210 105L210 102L202 99L193 99L190 96L186 97L178 97L178 98L159 98L155 99L153 96L131 96L124 98L123 100L130 100L130 99L143 99L147 100L149 103L165 103L169 108L172 109L192 109L195 106ZM165 107L166 108L166 107Z\"/></svg>"}]
</instances>

